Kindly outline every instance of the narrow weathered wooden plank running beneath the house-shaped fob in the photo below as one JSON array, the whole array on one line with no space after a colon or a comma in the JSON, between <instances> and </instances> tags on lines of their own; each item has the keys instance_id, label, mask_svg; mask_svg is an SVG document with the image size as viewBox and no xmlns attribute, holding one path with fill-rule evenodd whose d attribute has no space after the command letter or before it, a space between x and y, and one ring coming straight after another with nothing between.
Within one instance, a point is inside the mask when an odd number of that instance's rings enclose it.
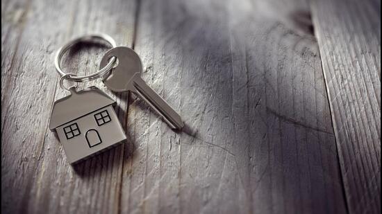
<instances>
[{"instance_id":1,"label":"narrow weathered wooden plank running beneath the house-shaped fob","mask_svg":"<svg viewBox=\"0 0 382 214\"><path fill-rule=\"evenodd\" d=\"M74 10L72 25L72 35L83 35L89 32L105 32L112 35L119 45L131 46L133 42L133 25L134 25L134 1L81 1ZM67 38L69 39L69 38ZM84 47L82 47L84 48ZM98 68L99 62L106 49L99 47L85 48L84 51L78 51L72 55L75 61L67 60L67 70L76 70L78 73L92 73ZM95 56L95 57L94 57ZM127 94L113 95L107 91L106 87L100 81L90 82L83 85L87 87L95 84L97 87L105 89L110 96L117 99L117 115L126 127L125 112L127 111ZM63 91L56 95L56 99L63 96ZM47 142L56 142L57 139L50 134ZM60 184L65 188L52 189L51 186L38 185L38 190L45 194L60 197L60 200L49 202L46 208L38 207L37 211L47 213L117 213L120 208L120 186L122 177L122 166L126 161L123 159L124 145L104 152L94 159L89 159L78 164L72 169L65 160L65 154L62 148L56 150L46 150L44 161L41 163L42 170L38 173L38 177L49 184ZM56 157L61 157L59 163L54 163ZM51 174L54 168L60 167L61 170L57 174ZM62 172L60 172L62 171ZM41 190L39 190L41 189ZM43 199L38 199L42 202Z\"/></svg>"}]
</instances>

